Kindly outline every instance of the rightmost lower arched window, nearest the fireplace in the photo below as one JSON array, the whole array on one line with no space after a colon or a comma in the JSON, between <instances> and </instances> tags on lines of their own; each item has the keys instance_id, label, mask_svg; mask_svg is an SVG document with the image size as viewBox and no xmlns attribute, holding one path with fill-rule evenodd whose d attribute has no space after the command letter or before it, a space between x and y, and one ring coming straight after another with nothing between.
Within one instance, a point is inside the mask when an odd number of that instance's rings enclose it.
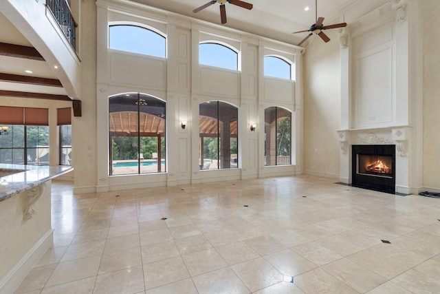
<instances>
[{"instance_id":1,"label":"rightmost lower arched window, nearest the fireplace","mask_svg":"<svg viewBox=\"0 0 440 294\"><path fill-rule=\"evenodd\" d=\"M281 107L264 111L265 165L291 165L292 114Z\"/></svg>"}]
</instances>

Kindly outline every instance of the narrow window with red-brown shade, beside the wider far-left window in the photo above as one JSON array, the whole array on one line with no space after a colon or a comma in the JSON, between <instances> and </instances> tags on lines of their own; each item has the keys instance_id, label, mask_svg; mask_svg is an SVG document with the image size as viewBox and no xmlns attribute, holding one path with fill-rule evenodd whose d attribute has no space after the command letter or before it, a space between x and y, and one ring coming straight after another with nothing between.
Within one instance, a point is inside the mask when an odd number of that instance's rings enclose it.
<instances>
[{"instance_id":1,"label":"narrow window with red-brown shade, beside the wider far-left window","mask_svg":"<svg viewBox=\"0 0 440 294\"><path fill-rule=\"evenodd\" d=\"M72 119L71 108L56 109L56 120L60 132L60 165L72 165Z\"/></svg>"}]
</instances>

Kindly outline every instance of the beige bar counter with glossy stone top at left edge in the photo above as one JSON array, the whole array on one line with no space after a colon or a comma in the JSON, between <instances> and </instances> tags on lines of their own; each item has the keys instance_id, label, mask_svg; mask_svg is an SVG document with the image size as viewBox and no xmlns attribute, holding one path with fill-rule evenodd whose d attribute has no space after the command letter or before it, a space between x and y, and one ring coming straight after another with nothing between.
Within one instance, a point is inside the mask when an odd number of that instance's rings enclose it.
<instances>
[{"instance_id":1,"label":"beige bar counter with glossy stone top at left edge","mask_svg":"<svg viewBox=\"0 0 440 294\"><path fill-rule=\"evenodd\" d=\"M13 293L52 246L52 179L69 171L0 164L0 293Z\"/></svg>"}]
</instances>

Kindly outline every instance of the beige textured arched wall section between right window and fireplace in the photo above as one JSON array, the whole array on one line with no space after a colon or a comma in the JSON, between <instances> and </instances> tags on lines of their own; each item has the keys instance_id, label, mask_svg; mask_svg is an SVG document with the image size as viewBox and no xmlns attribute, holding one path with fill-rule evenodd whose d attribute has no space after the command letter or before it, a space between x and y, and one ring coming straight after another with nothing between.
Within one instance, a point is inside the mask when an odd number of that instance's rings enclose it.
<instances>
[{"instance_id":1,"label":"beige textured arched wall section between right window and fireplace","mask_svg":"<svg viewBox=\"0 0 440 294\"><path fill-rule=\"evenodd\" d=\"M338 178L340 147L340 42L315 37L304 54L304 170L306 174Z\"/></svg>"}]
</instances>

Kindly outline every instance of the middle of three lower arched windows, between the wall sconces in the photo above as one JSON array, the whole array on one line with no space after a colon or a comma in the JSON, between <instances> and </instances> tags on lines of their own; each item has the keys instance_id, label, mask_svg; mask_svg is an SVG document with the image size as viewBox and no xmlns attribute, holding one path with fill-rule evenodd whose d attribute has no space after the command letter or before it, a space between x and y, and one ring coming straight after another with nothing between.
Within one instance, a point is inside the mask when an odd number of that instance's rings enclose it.
<instances>
[{"instance_id":1,"label":"middle of three lower arched windows, between the wall sconces","mask_svg":"<svg viewBox=\"0 0 440 294\"><path fill-rule=\"evenodd\" d=\"M238 108L220 101L199 105L200 169L238 167Z\"/></svg>"}]
</instances>

